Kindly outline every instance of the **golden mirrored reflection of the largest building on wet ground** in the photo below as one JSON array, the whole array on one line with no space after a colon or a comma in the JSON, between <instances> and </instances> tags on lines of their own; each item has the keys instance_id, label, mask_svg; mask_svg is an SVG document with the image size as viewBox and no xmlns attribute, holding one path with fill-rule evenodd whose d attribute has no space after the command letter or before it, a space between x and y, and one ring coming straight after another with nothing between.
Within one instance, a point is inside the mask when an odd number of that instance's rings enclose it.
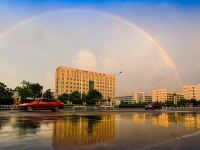
<instances>
[{"instance_id":1,"label":"golden mirrored reflection of the largest building on wet ground","mask_svg":"<svg viewBox=\"0 0 200 150\"><path fill-rule=\"evenodd\" d=\"M112 141L115 138L115 116L85 116L57 120L53 138L56 148Z\"/></svg>"}]
</instances>

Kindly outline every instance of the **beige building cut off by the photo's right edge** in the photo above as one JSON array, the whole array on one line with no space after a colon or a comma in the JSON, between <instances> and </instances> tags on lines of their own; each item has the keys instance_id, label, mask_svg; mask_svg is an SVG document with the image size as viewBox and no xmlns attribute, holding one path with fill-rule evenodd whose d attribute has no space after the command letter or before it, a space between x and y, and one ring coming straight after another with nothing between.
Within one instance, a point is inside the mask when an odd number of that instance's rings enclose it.
<instances>
[{"instance_id":1,"label":"beige building cut off by the photo's right edge","mask_svg":"<svg viewBox=\"0 0 200 150\"><path fill-rule=\"evenodd\" d=\"M184 98L200 100L200 84L183 86Z\"/></svg>"}]
</instances>

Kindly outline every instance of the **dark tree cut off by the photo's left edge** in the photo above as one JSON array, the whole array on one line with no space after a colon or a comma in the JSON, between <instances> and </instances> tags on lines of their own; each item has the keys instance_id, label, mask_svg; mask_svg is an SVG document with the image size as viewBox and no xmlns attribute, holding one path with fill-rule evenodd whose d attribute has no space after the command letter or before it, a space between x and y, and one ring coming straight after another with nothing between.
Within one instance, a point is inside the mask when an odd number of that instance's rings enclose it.
<instances>
[{"instance_id":1,"label":"dark tree cut off by the photo's left edge","mask_svg":"<svg viewBox=\"0 0 200 150\"><path fill-rule=\"evenodd\" d=\"M9 89L4 83L0 82L0 98L12 98L13 90Z\"/></svg>"}]
</instances>

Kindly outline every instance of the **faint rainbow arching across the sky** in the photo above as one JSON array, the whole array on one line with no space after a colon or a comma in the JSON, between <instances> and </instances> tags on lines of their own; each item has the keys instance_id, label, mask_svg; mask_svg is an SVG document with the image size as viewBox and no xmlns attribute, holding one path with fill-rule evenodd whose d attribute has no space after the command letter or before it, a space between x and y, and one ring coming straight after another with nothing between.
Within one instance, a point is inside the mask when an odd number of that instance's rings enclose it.
<instances>
[{"instance_id":1,"label":"faint rainbow arching across the sky","mask_svg":"<svg viewBox=\"0 0 200 150\"><path fill-rule=\"evenodd\" d=\"M97 15L101 15L101 16L104 16L104 17L108 17L108 18L111 18L113 20L116 20L116 21L119 21L121 23L124 23L125 25L129 26L130 28L140 32L141 34L143 34L152 44L154 44L159 52L162 54L163 56L163 59L168 63L168 65L172 68L172 70L174 71L175 73L175 76L179 82L180 85L182 85L182 82L181 82L181 78L179 76L179 73L177 71L177 67L175 65L175 63L173 62L173 60L171 59L171 57L169 56L169 54L167 53L167 50L165 50L162 46L160 46L160 44L149 34L147 33L146 31L144 31L141 27L135 25L134 23L132 22L129 22L119 16L116 16L116 15L113 15L113 14L109 14L109 13L104 13L104 12L101 12L101 11L96 11L96 10L89 10L89 9L62 9L62 10L55 10L55 11L50 11L50 12L44 12L44 13L41 13L39 15L35 15L35 16L32 16L28 19L25 19L15 25L13 25L12 27L10 27L9 29L5 30L4 32L0 33L0 40L3 39L4 37L6 37L9 33L11 33L12 31L34 21L34 20L37 20L41 17L46 17L46 16L50 16L50 15L53 15L53 14L59 14L59 13L72 13L72 12L88 12L88 13L95 13Z\"/></svg>"}]
</instances>

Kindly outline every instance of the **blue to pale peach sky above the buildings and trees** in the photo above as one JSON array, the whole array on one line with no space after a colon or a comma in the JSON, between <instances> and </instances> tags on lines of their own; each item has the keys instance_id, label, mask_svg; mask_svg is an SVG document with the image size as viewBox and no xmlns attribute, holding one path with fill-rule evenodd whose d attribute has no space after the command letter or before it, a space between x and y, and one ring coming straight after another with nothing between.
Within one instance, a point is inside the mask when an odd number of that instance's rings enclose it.
<instances>
[{"instance_id":1,"label":"blue to pale peach sky above the buildings and trees","mask_svg":"<svg viewBox=\"0 0 200 150\"><path fill-rule=\"evenodd\" d=\"M54 90L68 66L117 76L117 94L200 83L198 0L0 0L0 82Z\"/></svg>"}]
</instances>

